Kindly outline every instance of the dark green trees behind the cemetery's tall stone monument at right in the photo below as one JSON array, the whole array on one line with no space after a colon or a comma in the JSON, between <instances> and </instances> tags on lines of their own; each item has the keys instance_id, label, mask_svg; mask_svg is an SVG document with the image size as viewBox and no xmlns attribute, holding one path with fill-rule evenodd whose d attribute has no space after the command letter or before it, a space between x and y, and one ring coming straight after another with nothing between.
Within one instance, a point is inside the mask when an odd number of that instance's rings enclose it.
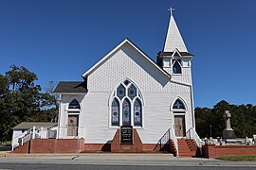
<instances>
[{"instance_id":1,"label":"dark green trees behind the cemetery's tall stone monument at right","mask_svg":"<svg viewBox=\"0 0 256 170\"><path fill-rule=\"evenodd\" d=\"M237 137L251 137L256 134L256 106L231 105L222 100L213 109L195 109L196 131L200 137L222 137L222 131L226 127L223 116L225 110L231 113L231 127Z\"/></svg>"}]
</instances>

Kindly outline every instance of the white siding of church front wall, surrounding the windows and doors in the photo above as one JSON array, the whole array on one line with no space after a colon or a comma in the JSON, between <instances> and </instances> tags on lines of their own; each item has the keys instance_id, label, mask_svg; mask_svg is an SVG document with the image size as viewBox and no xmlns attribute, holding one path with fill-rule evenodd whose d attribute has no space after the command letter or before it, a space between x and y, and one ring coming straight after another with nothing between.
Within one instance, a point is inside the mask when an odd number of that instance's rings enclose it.
<instances>
[{"instance_id":1,"label":"white siding of church front wall, surrounding the windows and doors","mask_svg":"<svg viewBox=\"0 0 256 170\"><path fill-rule=\"evenodd\" d=\"M190 75L190 69L185 69ZM186 75L186 74L184 74ZM79 126L80 136L86 144L105 144L111 141L117 128L110 127L109 116L112 93L119 83L129 78L142 94L143 127L137 128L143 144L155 144L169 127L174 126L171 106L176 98L186 102L186 128L192 127L191 86L175 83L169 76L156 69L129 43L124 43L117 52L94 70L87 79L85 95L63 95L60 126L67 125L68 103L75 97L82 104ZM174 78L175 81L191 84L191 76ZM60 138L67 138L60 132Z\"/></svg>"}]
</instances>

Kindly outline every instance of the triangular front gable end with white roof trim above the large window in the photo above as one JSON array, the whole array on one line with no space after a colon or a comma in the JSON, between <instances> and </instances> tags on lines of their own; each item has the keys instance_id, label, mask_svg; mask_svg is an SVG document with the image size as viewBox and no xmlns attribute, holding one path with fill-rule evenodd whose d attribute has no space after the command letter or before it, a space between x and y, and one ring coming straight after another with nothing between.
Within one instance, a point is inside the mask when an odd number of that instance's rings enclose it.
<instances>
[{"instance_id":1,"label":"triangular front gable end with white roof trim above the large window","mask_svg":"<svg viewBox=\"0 0 256 170\"><path fill-rule=\"evenodd\" d=\"M90 92L112 92L113 87L126 77L138 82L139 86L143 84L143 90L147 89L151 81L156 81L161 87L170 81L169 74L128 40L121 42L117 49L112 50L83 76L88 76Z\"/></svg>"}]
</instances>

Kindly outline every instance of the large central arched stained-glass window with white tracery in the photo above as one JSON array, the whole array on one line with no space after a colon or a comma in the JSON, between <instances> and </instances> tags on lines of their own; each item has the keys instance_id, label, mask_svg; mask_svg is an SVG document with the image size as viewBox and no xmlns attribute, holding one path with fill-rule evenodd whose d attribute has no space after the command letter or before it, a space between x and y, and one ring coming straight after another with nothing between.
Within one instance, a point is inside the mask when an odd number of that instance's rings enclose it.
<instances>
[{"instance_id":1,"label":"large central arched stained-glass window with white tracery","mask_svg":"<svg viewBox=\"0 0 256 170\"><path fill-rule=\"evenodd\" d=\"M142 127L141 93L126 79L115 90L111 103L111 126Z\"/></svg>"}]
</instances>

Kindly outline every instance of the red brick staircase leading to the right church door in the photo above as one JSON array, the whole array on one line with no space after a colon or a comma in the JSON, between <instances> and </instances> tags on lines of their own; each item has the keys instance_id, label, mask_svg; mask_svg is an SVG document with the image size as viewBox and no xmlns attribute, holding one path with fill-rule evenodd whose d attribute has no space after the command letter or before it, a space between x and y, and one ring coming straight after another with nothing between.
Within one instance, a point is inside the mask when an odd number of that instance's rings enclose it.
<instances>
[{"instance_id":1,"label":"red brick staircase leading to the right church door","mask_svg":"<svg viewBox=\"0 0 256 170\"><path fill-rule=\"evenodd\" d=\"M197 145L194 140L191 139L178 139L178 153L179 157L195 157L197 153ZM174 142L171 142L171 147L173 147L174 155L176 156L176 149L174 147Z\"/></svg>"}]
</instances>

